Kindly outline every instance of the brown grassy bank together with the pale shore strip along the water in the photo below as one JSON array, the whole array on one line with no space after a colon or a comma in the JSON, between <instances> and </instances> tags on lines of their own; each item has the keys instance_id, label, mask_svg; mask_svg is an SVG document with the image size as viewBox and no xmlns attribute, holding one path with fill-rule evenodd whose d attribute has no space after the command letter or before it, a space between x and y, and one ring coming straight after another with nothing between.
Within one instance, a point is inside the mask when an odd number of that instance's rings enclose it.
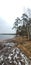
<instances>
[{"instance_id":1,"label":"brown grassy bank together with the pale shore strip along the water","mask_svg":"<svg viewBox=\"0 0 31 65\"><path fill-rule=\"evenodd\" d=\"M31 41L28 41L27 38L22 38L21 36L13 37L12 39L5 39L0 41L0 46L2 43L17 43L17 48L23 50L24 54L30 58L31 57Z\"/></svg>"}]
</instances>

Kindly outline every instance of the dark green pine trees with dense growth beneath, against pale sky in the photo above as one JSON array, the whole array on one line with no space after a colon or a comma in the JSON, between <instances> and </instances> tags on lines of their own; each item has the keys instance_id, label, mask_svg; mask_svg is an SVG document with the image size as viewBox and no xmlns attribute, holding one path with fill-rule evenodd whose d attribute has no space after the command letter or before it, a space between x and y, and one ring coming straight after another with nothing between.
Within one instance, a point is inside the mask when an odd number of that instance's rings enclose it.
<instances>
[{"instance_id":1,"label":"dark green pine trees with dense growth beneath, against pale sky","mask_svg":"<svg viewBox=\"0 0 31 65\"><path fill-rule=\"evenodd\" d=\"M30 12L30 10L29 10L29 12ZM21 24L21 22L23 23L23 25ZM19 24L21 24L22 26L19 25ZM17 17L15 19L13 29L15 28L16 29L16 33L18 33L19 35L20 34L28 35L27 27L30 24L31 24L31 17L29 17L27 13L23 13L22 16L21 16L21 19L19 17Z\"/></svg>"}]
</instances>

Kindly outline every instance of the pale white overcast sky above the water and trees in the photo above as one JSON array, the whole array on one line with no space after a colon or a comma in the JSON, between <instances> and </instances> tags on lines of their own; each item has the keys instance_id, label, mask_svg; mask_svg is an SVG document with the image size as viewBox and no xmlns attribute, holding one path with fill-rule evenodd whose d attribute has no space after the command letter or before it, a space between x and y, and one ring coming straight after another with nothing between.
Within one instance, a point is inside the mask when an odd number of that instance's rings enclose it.
<instances>
[{"instance_id":1,"label":"pale white overcast sky above the water and trees","mask_svg":"<svg viewBox=\"0 0 31 65\"><path fill-rule=\"evenodd\" d=\"M13 23L26 8L31 9L31 0L0 0L0 33L15 32Z\"/></svg>"}]
</instances>

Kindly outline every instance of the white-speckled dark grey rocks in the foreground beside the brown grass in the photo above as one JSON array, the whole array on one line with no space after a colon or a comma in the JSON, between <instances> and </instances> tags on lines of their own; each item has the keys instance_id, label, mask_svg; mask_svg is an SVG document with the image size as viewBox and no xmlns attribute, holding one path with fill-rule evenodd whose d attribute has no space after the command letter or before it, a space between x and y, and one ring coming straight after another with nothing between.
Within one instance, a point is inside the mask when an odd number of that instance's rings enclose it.
<instances>
[{"instance_id":1,"label":"white-speckled dark grey rocks in the foreground beside the brown grass","mask_svg":"<svg viewBox=\"0 0 31 65\"><path fill-rule=\"evenodd\" d=\"M11 47L8 44L5 45L8 49L7 52L3 51L0 54L0 65L31 65L31 60L29 60L21 49L14 46L12 43Z\"/></svg>"}]
</instances>

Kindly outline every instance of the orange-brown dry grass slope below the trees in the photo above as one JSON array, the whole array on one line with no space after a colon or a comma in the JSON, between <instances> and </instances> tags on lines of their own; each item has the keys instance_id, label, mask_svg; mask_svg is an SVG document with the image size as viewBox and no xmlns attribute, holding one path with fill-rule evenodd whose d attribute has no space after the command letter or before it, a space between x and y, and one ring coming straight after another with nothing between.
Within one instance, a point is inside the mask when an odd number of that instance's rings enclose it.
<instances>
[{"instance_id":1,"label":"orange-brown dry grass slope below the trees","mask_svg":"<svg viewBox=\"0 0 31 65\"><path fill-rule=\"evenodd\" d=\"M31 58L31 41L28 41L27 37L15 37L13 41L18 43L18 46L22 51Z\"/></svg>"}]
</instances>

